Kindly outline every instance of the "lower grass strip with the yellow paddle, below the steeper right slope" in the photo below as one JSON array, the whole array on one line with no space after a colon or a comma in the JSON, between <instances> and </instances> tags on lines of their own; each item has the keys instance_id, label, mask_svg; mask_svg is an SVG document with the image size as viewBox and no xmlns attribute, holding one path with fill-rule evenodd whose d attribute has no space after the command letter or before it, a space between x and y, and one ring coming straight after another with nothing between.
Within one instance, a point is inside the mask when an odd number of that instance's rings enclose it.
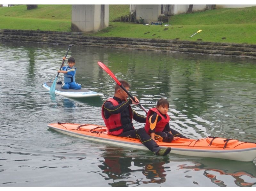
<instances>
[{"instance_id":1,"label":"lower grass strip with the yellow paddle, below the steeper right slope","mask_svg":"<svg viewBox=\"0 0 256 191\"><path fill-rule=\"evenodd\" d=\"M107 29L96 34L96 36L118 36L134 38L156 38L156 39L178 39L188 41L206 42L236 42L256 43L255 24L229 24L229 25L175 25L175 26L143 26L131 25L129 23L114 23ZM203 31L196 33L199 29ZM135 35L136 34L136 35Z\"/></svg>"}]
</instances>

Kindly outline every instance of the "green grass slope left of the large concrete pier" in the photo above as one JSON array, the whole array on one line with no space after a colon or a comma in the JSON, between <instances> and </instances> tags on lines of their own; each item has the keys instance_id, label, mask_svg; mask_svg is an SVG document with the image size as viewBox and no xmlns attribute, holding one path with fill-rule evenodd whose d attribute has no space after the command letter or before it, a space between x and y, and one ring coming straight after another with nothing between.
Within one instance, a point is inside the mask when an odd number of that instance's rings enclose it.
<instances>
[{"instance_id":1,"label":"green grass slope left of the large concrete pier","mask_svg":"<svg viewBox=\"0 0 256 191\"><path fill-rule=\"evenodd\" d=\"M0 7L0 29L71 31L71 5Z\"/></svg>"}]
</instances>

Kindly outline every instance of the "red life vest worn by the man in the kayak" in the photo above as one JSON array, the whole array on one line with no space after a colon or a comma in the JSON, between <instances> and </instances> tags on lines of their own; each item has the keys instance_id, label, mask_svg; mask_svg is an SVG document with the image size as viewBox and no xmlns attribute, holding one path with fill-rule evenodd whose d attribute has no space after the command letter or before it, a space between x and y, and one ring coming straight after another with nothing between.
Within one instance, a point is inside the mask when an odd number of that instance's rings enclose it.
<instances>
[{"instance_id":1,"label":"red life vest worn by the man in the kayak","mask_svg":"<svg viewBox=\"0 0 256 191\"><path fill-rule=\"evenodd\" d=\"M106 102L111 102L114 106L119 104L113 98L109 98ZM108 128L108 134L111 134L111 135L122 134L124 128L121 128L123 126L122 121L121 121L121 113L111 114L110 117L108 119L106 119L105 115L104 115L104 104L106 102L103 103L103 106L101 108L101 116L102 116L102 118L105 122L106 127ZM130 105L129 105L129 111L130 111L130 118L131 118L131 121L132 121L132 108L131 108Z\"/></svg>"}]
</instances>

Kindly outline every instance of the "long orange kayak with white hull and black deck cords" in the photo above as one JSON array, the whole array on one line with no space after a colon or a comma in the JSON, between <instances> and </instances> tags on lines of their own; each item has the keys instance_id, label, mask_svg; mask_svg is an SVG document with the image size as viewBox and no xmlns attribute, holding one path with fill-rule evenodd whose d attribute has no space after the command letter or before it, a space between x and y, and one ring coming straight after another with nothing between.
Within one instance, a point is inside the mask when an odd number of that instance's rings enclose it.
<instances>
[{"instance_id":1,"label":"long orange kayak with white hull and black deck cords","mask_svg":"<svg viewBox=\"0 0 256 191\"><path fill-rule=\"evenodd\" d=\"M57 132L104 143L135 149L148 150L139 139L107 134L106 126L93 124L52 123L47 125ZM256 143L235 139L206 137L202 139L180 139L170 143L158 142L160 147L171 147L171 154L193 157L213 157L237 161L252 161L256 157Z\"/></svg>"}]
</instances>

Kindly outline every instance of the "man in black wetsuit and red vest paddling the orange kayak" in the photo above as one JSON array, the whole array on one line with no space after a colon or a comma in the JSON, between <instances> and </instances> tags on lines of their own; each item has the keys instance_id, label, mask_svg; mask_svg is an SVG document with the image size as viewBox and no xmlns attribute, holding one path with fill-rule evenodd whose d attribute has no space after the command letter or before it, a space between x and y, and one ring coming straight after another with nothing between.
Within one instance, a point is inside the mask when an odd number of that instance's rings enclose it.
<instances>
[{"instance_id":1,"label":"man in black wetsuit and red vest paddling the orange kayak","mask_svg":"<svg viewBox=\"0 0 256 191\"><path fill-rule=\"evenodd\" d=\"M121 80L120 83L128 91L130 85ZM134 97L135 101L128 99L127 93L116 84L115 94L113 98L109 98L103 103L101 115L108 128L108 134L120 137L138 138L140 141L156 155L163 156L170 153L171 148L160 148L154 140L146 133L145 129L134 129L132 119L137 122L145 123L146 117L140 116L136 113L131 104L138 104L139 100Z\"/></svg>"}]
</instances>

